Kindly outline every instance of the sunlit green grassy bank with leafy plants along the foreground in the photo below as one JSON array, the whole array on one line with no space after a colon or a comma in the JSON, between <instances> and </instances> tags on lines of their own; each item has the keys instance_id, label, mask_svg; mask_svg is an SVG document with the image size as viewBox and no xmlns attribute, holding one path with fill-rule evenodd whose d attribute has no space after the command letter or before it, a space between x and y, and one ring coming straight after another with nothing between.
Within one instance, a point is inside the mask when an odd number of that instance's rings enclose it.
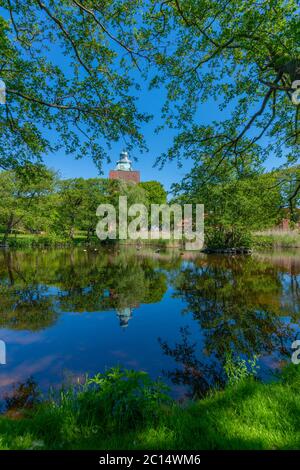
<instances>
[{"instance_id":1,"label":"sunlit green grassy bank with leafy plants along the foreground","mask_svg":"<svg viewBox=\"0 0 300 470\"><path fill-rule=\"evenodd\" d=\"M1 449L297 449L300 367L245 378L180 405L141 372L111 370L77 393L0 418Z\"/></svg>"}]
</instances>

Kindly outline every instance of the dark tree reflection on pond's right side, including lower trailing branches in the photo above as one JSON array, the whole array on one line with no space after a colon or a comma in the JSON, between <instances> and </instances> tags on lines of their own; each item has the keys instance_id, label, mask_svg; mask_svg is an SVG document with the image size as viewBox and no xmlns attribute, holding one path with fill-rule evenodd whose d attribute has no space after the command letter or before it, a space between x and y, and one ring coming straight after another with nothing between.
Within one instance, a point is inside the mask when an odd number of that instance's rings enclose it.
<instances>
[{"instance_id":1,"label":"dark tree reflection on pond's right side, including lower trailing branches","mask_svg":"<svg viewBox=\"0 0 300 470\"><path fill-rule=\"evenodd\" d=\"M290 343L296 336L291 323L299 323L299 297L293 296L293 308L283 302L282 270L255 258L226 257L199 258L183 267L173 280L174 296L184 301L184 312L191 312L199 323L202 353L211 361L207 366L195 357L196 345L188 344L183 331L182 343L175 348L161 342L164 353L181 365L167 375L199 394L198 389L202 393L212 383L222 382L219 374L228 352L248 358L271 353L290 357Z\"/></svg>"}]
</instances>

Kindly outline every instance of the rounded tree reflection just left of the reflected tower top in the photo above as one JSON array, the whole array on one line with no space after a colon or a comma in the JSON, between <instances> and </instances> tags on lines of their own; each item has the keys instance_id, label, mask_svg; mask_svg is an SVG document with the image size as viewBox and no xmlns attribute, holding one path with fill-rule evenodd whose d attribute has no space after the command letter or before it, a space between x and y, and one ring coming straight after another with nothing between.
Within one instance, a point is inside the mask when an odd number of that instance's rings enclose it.
<instances>
[{"instance_id":1,"label":"rounded tree reflection just left of the reflected tower top","mask_svg":"<svg viewBox=\"0 0 300 470\"><path fill-rule=\"evenodd\" d=\"M63 279L59 302L65 311L123 311L159 302L166 289L166 275L157 261L117 253L77 265L77 273Z\"/></svg>"}]
</instances>

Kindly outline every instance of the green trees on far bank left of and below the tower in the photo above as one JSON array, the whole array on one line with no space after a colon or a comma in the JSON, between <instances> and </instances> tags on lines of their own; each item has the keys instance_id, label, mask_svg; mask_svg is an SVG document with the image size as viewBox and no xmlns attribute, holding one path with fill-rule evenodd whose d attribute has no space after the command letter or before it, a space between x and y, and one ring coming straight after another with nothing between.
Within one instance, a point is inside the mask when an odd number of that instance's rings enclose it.
<instances>
[{"instance_id":1,"label":"green trees on far bank left of and below the tower","mask_svg":"<svg viewBox=\"0 0 300 470\"><path fill-rule=\"evenodd\" d=\"M90 240L95 233L99 204L162 204L167 193L156 181L139 184L106 178L60 179L44 165L28 164L0 173L0 230L2 243L11 234L46 234Z\"/></svg>"}]
</instances>

